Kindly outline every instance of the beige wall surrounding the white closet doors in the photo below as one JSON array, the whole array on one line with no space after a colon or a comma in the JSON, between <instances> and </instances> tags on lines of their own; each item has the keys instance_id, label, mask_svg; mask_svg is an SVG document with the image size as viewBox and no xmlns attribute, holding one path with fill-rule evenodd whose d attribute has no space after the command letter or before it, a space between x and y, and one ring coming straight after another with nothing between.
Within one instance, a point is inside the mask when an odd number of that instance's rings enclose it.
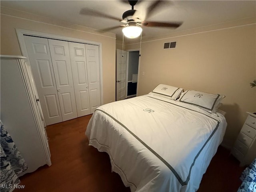
<instances>
[{"instance_id":1,"label":"beige wall surrounding the white closet doors","mask_svg":"<svg viewBox=\"0 0 256 192\"><path fill-rule=\"evenodd\" d=\"M5 14L2 14L2 13ZM14 12L11 14L20 14ZM73 26L72 24L58 23L54 24L42 22L44 18L35 18L26 14L21 15L25 18L10 16L8 10L1 9L1 54L6 55L21 55L21 50L18 43L15 28L43 32L48 34L56 34L72 38L80 38L102 43L102 71L103 71L103 103L115 101L115 81L116 81L116 38L108 37L91 32L85 32L84 28ZM31 18L31 19L28 19ZM59 25L58 25L59 24ZM72 28L71 28L72 27Z\"/></svg>"}]
</instances>

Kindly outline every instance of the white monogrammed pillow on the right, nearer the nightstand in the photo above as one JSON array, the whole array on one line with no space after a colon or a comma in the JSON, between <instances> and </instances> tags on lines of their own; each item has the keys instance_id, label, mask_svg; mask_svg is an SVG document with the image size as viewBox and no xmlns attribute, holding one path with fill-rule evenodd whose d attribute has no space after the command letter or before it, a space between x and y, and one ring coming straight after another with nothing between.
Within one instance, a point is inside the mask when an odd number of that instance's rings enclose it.
<instances>
[{"instance_id":1,"label":"white monogrammed pillow on the right, nearer the nightstand","mask_svg":"<svg viewBox=\"0 0 256 192\"><path fill-rule=\"evenodd\" d=\"M178 99L180 102L192 104L198 106L208 112L216 113L216 110L220 106L220 102L225 95L212 94L195 90L186 90Z\"/></svg>"}]
</instances>

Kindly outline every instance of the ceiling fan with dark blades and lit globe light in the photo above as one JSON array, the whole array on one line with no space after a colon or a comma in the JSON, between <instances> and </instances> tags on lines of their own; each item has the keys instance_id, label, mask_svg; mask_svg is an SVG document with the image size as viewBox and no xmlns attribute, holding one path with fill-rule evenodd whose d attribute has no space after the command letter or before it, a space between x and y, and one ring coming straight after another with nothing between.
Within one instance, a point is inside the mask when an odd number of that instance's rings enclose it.
<instances>
[{"instance_id":1,"label":"ceiling fan with dark blades and lit globe light","mask_svg":"<svg viewBox=\"0 0 256 192\"><path fill-rule=\"evenodd\" d=\"M122 1L124 2L124 1ZM138 11L134 9L134 6L136 5L136 3L138 2L138 0L128 0L129 4L132 6L131 10L127 10L126 12L123 13L122 15L122 20L114 17L114 16L110 16L108 14L104 14L102 12L98 12L96 10L91 10L88 8L82 8L82 10L80 11L80 14L84 14L84 15L92 15L92 16L100 16L100 17L104 17L104 18L110 18L110 19L114 19L114 20L118 20L124 24L120 25L120 26L114 26L114 27L110 27L110 28L105 28L103 29L103 31L109 31L109 30L113 30L116 28L120 28L123 27L122 32L124 33L124 35L128 38L136 38L138 36L140 36L141 32L142 32L142 28L141 27L170 27L170 28L178 28L182 22L153 22L153 21L145 21L142 18L140 18ZM152 16L152 14L154 12L156 12L156 10L160 7L160 5L164 2L161 0L157 0L157 1L152 1L153 3L148 7L146 14L145 14L145 18L149 18L150 16Z\"/></svg>"}]
</instances>

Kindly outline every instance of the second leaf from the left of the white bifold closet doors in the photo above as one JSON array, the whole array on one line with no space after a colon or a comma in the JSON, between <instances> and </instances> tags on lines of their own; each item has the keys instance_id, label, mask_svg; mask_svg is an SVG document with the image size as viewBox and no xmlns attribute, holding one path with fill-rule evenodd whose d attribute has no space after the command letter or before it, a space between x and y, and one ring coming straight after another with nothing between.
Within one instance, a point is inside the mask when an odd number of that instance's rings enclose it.
<instances>
[{"instance_id":1,"label":"second leaf from the left of the white bifold closet doors","mask_svg":"<svg viewBox=\"0 0 256 192\"><path fill-rule=\"evenodd\" d=\"M52 66L64 121L78 117L68 42L48 39Z\"/></svg>"}]
</instances>

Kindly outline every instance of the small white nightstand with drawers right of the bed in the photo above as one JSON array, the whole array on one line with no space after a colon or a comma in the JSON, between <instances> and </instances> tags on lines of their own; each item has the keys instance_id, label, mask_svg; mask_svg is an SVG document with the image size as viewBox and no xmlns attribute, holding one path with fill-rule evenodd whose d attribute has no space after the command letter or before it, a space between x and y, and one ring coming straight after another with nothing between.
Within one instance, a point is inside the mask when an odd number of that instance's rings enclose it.
<instances>
[{"instance_id":1,"label":"small white nightstand with drawers right of the bed","mask_svg":"<svg viewBox=\"0 0 256 192\"><path fill-rule=\"evenodd\" d=\"M247 112L248 117L231 150L240 166L250 164L256 157L256 114Z\"/></svg>"}]
</instances>

